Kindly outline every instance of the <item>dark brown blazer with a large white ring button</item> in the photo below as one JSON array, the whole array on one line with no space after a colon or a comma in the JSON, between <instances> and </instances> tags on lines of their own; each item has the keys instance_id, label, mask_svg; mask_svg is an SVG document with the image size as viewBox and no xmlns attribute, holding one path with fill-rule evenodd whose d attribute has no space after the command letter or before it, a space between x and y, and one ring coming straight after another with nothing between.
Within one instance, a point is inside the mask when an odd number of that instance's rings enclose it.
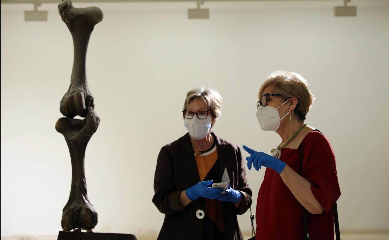
<instances>
[{"instance_id":1,"label":"dark brown blazer with a large white ring button","mask_svg":"<svg viewBox=\"0 0 389 240\"><path fill-rule=\"evenodd\" d=\"M231 187L242 193L240 207L222 202L224 234L226 240L243 240L237 214L244 214L251 205L252 192L247 184L245 163L237 145L215 136L220 175L227 168ZM196 217L197 210L205 211L205 200L199 198L182 208L179 203L181 191L200 182L200 176L187 133L178 140L162 147L158 155L154 175L152 202L165 214L158 240L201 240L204 218ZM249 224L249 221L247 221Z\"/></svg>"}]
</instances>

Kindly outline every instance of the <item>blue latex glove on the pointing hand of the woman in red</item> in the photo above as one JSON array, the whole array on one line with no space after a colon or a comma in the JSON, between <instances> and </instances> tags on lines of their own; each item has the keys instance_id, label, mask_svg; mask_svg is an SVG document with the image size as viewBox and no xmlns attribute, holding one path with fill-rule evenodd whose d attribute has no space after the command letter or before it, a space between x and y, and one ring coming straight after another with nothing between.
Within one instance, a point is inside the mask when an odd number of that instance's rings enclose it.
<instances>
[{"instance_id":1,"label":"blue latex glove on the pointing hand of the woman in red","mask_svg":"<svg viewBox=\"0 0 389 240\"><path fill-rule=\"evenodd\" d=\"M265 152L256 152L246 147L245 145L243 146L243 149L246 150L246 152L248 152L249 154L251 154L251 156L246 158L247 168L249 169L251 169L251 163L257 171L262 166L265 166L267 168L275 170L278 174L280 174L285 168L286 163L284 163L278 158L266 154Z\"/></svg>"}]
</instances>

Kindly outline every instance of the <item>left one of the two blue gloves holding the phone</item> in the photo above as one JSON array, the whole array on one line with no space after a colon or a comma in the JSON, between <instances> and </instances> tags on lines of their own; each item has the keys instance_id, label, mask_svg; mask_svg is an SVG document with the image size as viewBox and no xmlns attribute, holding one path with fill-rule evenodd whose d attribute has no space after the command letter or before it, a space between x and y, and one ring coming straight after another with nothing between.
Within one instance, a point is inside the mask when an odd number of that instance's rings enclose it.
<instances>
[{"instance_id":1,"label":"left one of the two blue gloves holding the phone","mask_svg":"<svg viewBox=\"0 0 389 240\"><path fill-rule=\"evenodd\" d=\"M185 191L186 196L188 196L188 198L192 201L195 201L200 197L215 199L220 195L221 192L223 192L223 188L207 187L208 185L212 184L212 182L212 180L202 181L193 185L192 187L189 187Z\"/></svg>"}]
</instances>

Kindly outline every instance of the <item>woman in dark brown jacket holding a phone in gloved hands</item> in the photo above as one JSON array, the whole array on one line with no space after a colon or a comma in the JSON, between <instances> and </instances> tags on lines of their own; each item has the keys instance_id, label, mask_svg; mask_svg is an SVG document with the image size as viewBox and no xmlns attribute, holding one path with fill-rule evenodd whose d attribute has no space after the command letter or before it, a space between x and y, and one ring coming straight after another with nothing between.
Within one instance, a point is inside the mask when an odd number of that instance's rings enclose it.
<instances>
[{"instance_id":1,"label":"woman in dark brown jacket holding a phone in gloved hands","mask_svg":"<svg viewBox=\"0 0 389 240\"><path fill-rule=\"evenodd\" d=\"M165 220L158 240L243 240L237 214L250 207L252 192L239 147L211 131L220 108L216 90L189 91L182 111L188 133L159 152L152 202ZM211 187L222 176L230 180L225 194Z\"/></svg>"}]
</instances>

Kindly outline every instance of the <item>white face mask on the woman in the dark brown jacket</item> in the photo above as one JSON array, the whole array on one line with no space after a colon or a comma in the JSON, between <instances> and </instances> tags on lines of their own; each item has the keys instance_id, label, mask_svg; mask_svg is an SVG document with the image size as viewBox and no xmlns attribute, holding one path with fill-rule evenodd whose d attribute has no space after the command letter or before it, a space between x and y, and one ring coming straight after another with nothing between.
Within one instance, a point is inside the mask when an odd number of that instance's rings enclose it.
<instances>
[{"instance_id":1,"label":"white face mask on the woman in the dark brown jacket","mask_svg":"<svg viewBox=\"0 0 389 240\"><path fill-rule=\"evenodd\" d=\"M184 120L184 126L193 139L200 140L208 135L212 126L211 122L211 116L205 119L199 119L197 116L193 116L191 119Z\"/></svg>"}]
</instances>

